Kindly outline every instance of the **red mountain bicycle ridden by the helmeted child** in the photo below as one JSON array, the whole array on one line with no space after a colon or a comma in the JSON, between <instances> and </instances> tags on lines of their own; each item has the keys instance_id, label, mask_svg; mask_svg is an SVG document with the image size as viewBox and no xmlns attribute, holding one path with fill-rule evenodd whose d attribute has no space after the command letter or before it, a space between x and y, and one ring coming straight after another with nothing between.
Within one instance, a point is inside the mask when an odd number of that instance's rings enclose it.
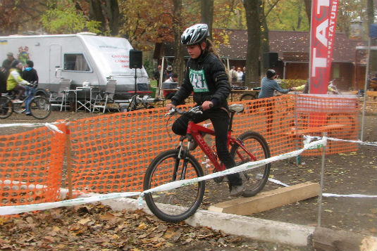
<instances>
[{"instance_id":1,"label":"red mountain bicycle ridden by the helmeted child","mask_svg":"<svg viewBox=\"0 0 377 251\"><path fill-rule=\"evenodd\" d=\"M242 112L244 107L240 104L233 104L229 106L229 110L228 147L230 147L230 154L235 158L236 165L270 157L268 144L261 134L255 131L245 131L237 139L231 136L233 116L236 112ZM218 162L214 147L211 148L204 141L204 135L215 135L214 130L194 124L192 121L192 116L199 112L202 112L200 106L188 111L172 108L171 112L168 113L168 115L179 114L191 117L187 127L187 134L180 137L178 148L166 150L152 160L144 176L144 191L171 181L203 176L202 166L199 165L194 155L190 153L195 146L199 146L206 157L209 158L214 166L214 172L225 170L225 166ZM270 168L271 165L266 164L241 173L245 184L245 191L242 193L244 197L256 195L264 188ZM223 178L224 176L220 176L215 178L214 181L219 183L223 181ZM159 219L170 222L183 221L198 209L203 200L204 189L205 182L198 181L195 184L181 186L169 191L146 193L144 198L149 209ZM176 207L171 207L171 205Z\"/></svg>"}]
</instances>

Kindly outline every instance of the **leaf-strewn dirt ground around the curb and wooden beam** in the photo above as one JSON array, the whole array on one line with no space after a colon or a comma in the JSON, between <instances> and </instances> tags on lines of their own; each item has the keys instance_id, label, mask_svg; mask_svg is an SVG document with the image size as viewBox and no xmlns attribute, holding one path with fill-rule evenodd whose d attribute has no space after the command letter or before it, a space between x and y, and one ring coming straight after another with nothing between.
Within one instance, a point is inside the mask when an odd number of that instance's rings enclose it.
<instances>
[{"instance_id":1,"label":"leaf-strewn dirt ground around the curb and wooden beam","mask_svg":"<svg viewBox=\"0 0 377 251\"><path fill-rule=\"evenodd\" d=\"M6 120L1 120L1 124L6 123L35 123L35 122L54 122L60 119L69 118L70 120L79 119L82 117L97 116L97 114L90 114L87 112L52 112L47 120L34 120L32 117L25 115L11 115ZM377 141L377 121L376 114L366 114L364 124L364 141ZM361 118L360 123L361 125ZM0 134L12 134L21 130L29 130L24 127L6 127L0 128ZM377 195L377 147L376 146L359 146L359 150L354 153L343 153L338 155L326 156L326 167L324 175L323 193L336 193L341 195L347 194L361 194L361 195ZM295 160L274 162L271 167L271 175L273 179L282 181L288 185L299 184L306 181L320 181L321 157L302 157L302 164L297 165ZM210 181L211 182L211 181ZM268 182L264 191L276 189L279 185ZM216 204L230 200L228 197L228 187L223 184L206 185L206 194L202 203L202 209L206 209L209 205ZM84 208L83 214L76 214L80 208ZM82 210L82 209L81 209ZM81 211L80 211L81 212ZM107 236L113 233L113 229L102 229L98 231L91 229L96 224L87 226L87 229L80 234L79 230L75 230L75 236L80 238L62 238L61 235L53 236L45 240L44 236L51 233L54 226L58 229L63 229L66 226L65 221L69 221L70 225L73 222L80 221L89 217L91 220L97 222L93 217L98 216L102 212L104 214L116 215L120 222L131 222L128 226L134 228L132 231L133 239L130 236L122 238L120 233L114 233L122 240L128 240L126 243L120 241L104 241L104 235ZM253 214L252 217L263 219L271 219L275 221L284 221L295 224L303 224L307 226L316 226L318 220L318 198L310 198L302 200L290 205L278 207L273 210ZM47 217L48 215L58 214L56 217ZM81 216L80 216L81 215ZM96 250L303 250L302 247L290 247L288 245L280 245L278 243L263 243L238 236L228 236L218 231L211 229L192 228L185 224L166 224L158 221L156 217L144 215L142 212L135 212L132 216L122 212L112 212L108 208L103 208L101 205L71 207L57 210L50 210L50 212L39 212L34 216L26 214L23 217L13 220L5 220L0 218L0 249L1 250L89 250L95 248ZM29 217L29 218L28 218ZM30 219L30 217L32 219ZM38 219L45 219L45 222L38 221ZM47 220L48 219L48 220ZM75 221L76 220L76 221ZM108 219L107 219L108 220ZM116 222L118 222L116 221ZM22 222L23 224L21 224ZM38 223L39 222L39 223ZM113 221L111 221L113 222ZM148 228L154 229L154 232L147 231L146 227L140 227L143 223L147 224ZM32 224L32 225L30 225ZM101 228L104 228L104 223L101 223ZM106 225L105 225L106 226ZM321 210L321 226L334 229L352 231L354 233L361 233L367 236L377 236L377 199L376 198L323 198ZM68 229L72 226L66 226ZM28 231L23 231L28 229ZM30 229L31 228L31 229ZM115 226L113 226L115 228ZM165 229L156 233L156 229ZM90 231L87 231L87 230ZM180 232L177 238L167 238L168 229ZM58 232L58 230L55 228ZM75 232L73 231L73 232ZM109 232L110 231L110 232ZM68 231L69 232L69 231ZM70 231L72 232L72 231ZM17 233L17 235L15 235ZM63 233L60 231L58 233ZM89 236L88 236L89 235ZM146 241L152 236L160 236L162 239L158 243L151 244ZM12 236L18 236L23 240L27 239L26 244L18 245ZM33 237L34 236L34 237ZM38 237L39 236L39 237ZM164 238L166 237L166 238ZM41 243L37 242L40 238L44 247L40 247ZM90 246L93 243L85 244L84 239L91 238L92 242L97 244ZM115 238L115 237L114 237ZM171 239L173 238L173 239ZM14 243L12 242L14 240ZM156 239L155 239L156 240ZM34 243L34 244L32 244ZM45 244L47 243L47 244ZM81 243L81 244L80 244ZM104 244L106 243L106 245ZM111 243L118 243L111 245ZM28 245L30 244L30 245ZM79 245L80 244L80 245ZM58 245L60 246L59 249ZM40 248L39 248L40 247ZM311 247L307 247L311 250Z\"/></svg>"}]
</instances>

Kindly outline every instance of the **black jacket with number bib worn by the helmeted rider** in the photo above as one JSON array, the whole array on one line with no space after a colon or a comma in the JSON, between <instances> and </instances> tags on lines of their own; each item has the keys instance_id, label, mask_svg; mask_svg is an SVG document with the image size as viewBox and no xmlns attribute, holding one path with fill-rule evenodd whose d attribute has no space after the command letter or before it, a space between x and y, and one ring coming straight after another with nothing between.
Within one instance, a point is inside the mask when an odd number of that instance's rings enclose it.
<instances>
[{"instance_id":1,"label":"black jacket with number bib worn by the helmeted rider","mask_svg":"<svg viewBox=\"0 0 377 251\"><path fill-rule=\"evenodd\" d=\"M179 91L171 98L173 105L185 100L192 91L194 91L194 102L198 105L202 105L204 101L212 101L214 108L228 108L226 101L230 94L228 75L223 63L214 53L204 53L199 58L190 58L187 61L185 79Z\"/></svg>"}]
</instances>

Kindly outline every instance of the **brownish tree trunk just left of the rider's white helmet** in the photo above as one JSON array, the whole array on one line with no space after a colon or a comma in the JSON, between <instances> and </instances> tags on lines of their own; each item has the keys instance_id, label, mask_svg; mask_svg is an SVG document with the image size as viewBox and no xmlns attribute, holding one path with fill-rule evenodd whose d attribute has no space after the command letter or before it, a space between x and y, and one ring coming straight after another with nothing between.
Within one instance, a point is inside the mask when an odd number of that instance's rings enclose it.
<instances>
[{"instance_id":1,"label":"brownish tree trunk just left of the rider's white helmet","mask_svg":"<svg viewBox=\"0 0 377 251\"><path fill-rule=\"evenodd\" d=\"M182 0L173 0L173 33L174 33L174 69L173 71L178 74L178 84L183 81L183 72L185 72L185 47L180 44L180 34L182 32L182 15L183 6Z\"/></svg>"}]
</instances>

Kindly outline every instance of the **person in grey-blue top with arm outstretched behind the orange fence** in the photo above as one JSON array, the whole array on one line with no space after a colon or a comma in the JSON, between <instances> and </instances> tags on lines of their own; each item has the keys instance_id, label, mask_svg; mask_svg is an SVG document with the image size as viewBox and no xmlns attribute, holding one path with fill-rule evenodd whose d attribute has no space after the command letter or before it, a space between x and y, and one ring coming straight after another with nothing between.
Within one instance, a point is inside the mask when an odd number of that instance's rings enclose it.
<instances>
[{"instance_id":1,"label":"person in grey-blue top with arm outstretched behind the orange fence","mask_svg":"<svg viewBox=\"0 0 377 251\"><path fill-rule=\"evenodd\" d=\"M259 92L258 98L271 98L273 97L273 91L279 91L282 94L288 94L292 89L282 89L275 79L278 78L278 74L275 70L269 69L266 72L266 77L261 82L261 92ZM266 101L266 115L267 115L267 134L271 134L273 123L273 110L275 108L275 101Z\"/></svg>"}]
</instances>

